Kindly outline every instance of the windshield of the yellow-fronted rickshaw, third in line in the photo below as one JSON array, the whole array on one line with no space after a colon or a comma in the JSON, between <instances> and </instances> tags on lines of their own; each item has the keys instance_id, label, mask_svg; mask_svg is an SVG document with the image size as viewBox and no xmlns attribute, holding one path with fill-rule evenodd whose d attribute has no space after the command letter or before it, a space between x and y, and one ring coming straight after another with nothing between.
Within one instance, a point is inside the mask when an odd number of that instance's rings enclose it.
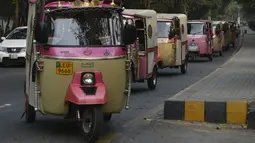
<instances>
[{"instance_id":1,"label":"windshield of the yellow-fronted rickshaw, third in line","mask_svg":"<svg viewBox=\"0 0 255 143\"><path fill-rule=\"evenodd\" d=\"M168 38L168 35L172 31L172 22L158 21L158 38Z\"/></svg>"}]
</instances>

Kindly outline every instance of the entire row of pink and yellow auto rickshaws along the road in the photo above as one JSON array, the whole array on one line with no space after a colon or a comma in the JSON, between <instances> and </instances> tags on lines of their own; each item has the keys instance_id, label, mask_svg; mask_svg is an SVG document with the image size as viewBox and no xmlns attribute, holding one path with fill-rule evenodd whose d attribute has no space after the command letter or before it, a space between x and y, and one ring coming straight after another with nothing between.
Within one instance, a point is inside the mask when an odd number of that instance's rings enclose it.
<instances>
[{"instance_id":1,"label":"entire row of pink and yellow auto rickshaws along the road","mask_svg":"<svg viewBox=\"0 0 255 143\"><path fill-rule=\"evenodd\" d=\"M123 10L114 0L38 1L29 1L23 115L27 123L38 112L75 119L85 142L129 108L132 83L153 90L159 69L185 74L189 58L212 61L236 39L230 22Z\"/></svg>"}]
</instances>

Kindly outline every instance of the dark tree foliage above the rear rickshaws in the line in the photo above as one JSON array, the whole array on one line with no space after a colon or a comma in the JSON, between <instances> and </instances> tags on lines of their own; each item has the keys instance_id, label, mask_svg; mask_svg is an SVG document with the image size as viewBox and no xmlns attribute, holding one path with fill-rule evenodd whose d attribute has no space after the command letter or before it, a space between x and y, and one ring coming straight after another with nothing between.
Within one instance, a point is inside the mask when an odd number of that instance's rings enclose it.
<instances>
[{"instance_id":1,"label":"dark tree foliage above the rear rickshaws in the line","mask_svg":"<svg viewBox=\"0 0 255 143\"><path fill-rule=\"evenodd\" d=\"M232 0L124 0L127 8L151 8L157 12L185 13L189 18L200 19L224 13Z\"/></svg>"}]
</instances>

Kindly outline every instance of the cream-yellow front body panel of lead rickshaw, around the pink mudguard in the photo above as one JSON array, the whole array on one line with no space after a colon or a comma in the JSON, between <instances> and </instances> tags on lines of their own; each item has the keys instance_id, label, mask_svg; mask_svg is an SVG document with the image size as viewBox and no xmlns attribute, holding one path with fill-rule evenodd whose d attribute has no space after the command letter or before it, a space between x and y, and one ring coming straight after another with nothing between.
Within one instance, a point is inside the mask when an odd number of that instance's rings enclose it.
<instances>
[{"instance_id":1,"label":"cream-yellow front body panel of lead rickshaw, around the pink mudguard","mask_svg":"<svg viewBox=\"0 0 255 143\"><path fill-rule=\"evenodd\" d=\"M108 48L108 52L110 54L118 55L120 54L118 51L123 50L122 48L116 47L113 49L114 50ZM63 55L66 53L63 51L66 51L66 48L50 48L48 53L52 53L52 55L48 54L46 56L45 53L42 53L44 54L43 60L45 65L44 71L41 72L39 76L41 91L43 91L40 96L42 112L62 115L67 114L68 111L68 104L64 103L67 89L73 79L73 74L56 74L57 61L73 62L73 73L85 70L100 71L102 73L103 82L106 87L107 96L107 103L103 105L103 111L105 113L119 113L122 110L125 101L124 91L126 88L126 82L123 81L127 81L125 53L122 52L122 55L112 56L114 57L113 59L107 59L111 58L111 56L109 55L108 57L103 57L104 52L101 54L100 52L97 52L95 53L95 57L99 57L99 59L93 60L89 58L84 59L83 53L85 51L83 52L82 50L85 50L85 48L77 48L76 53L69 53L70 55L66 55L65 58ZM61 51L62 55L60 54ZM55 56L53 56L54 54ZM75 54L76 56L72 57L72 54ZM61 57L62 59L58 59L56 56ZM83 58L77 59L77 57Z\"/></svg>"}]
</instances>

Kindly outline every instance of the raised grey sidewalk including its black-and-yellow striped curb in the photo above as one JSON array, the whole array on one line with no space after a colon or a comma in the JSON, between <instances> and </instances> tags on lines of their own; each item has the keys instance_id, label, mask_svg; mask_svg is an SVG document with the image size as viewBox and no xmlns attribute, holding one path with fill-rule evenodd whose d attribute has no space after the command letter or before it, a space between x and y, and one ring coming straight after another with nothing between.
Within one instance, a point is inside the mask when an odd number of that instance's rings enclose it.
<instances>
[{"instance_id":1,"label":"raised grey sidewalk including its black-and-yellow striped curb","mask_svg":"<svg viewBox=\"0 0 255 143\"><path fill-rule=\"evenodd\" d=\"M240 51L219 69L166 100L164 118L248 124L249 128L255 128L253 37L246 36Z\"/></svg>"}]
</instances>

